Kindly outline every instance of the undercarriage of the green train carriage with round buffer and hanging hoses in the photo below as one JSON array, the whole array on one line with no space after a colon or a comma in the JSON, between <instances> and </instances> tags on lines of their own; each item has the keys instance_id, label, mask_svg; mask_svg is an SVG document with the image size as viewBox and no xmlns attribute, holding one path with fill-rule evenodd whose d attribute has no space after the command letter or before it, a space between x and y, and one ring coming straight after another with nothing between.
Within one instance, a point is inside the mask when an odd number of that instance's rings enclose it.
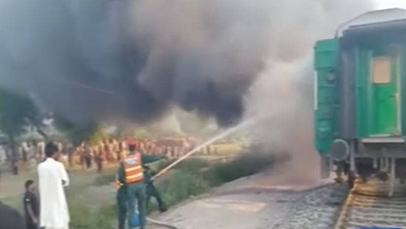
<instances>
[{"instance_id":1,"label":"undercarriage of the green train carriage with round buffer and hanging hoses","mask_svg":"<svg viewBox=\"0 0 406 229\"><path fill-rule=\"evenodd\" d=\"M406 145L404 139L365 139L361 141L339 141L339 151L331 151L322 161L322 176L336 174L337 182L347 180L350 187L355 180L367 182L372 177L388 182L388 195L393 195L396 180L406 181ZM345 145L347 144L347 145ZM344 150L344 152L343 152Z\"/></svg>"}]
</instances>

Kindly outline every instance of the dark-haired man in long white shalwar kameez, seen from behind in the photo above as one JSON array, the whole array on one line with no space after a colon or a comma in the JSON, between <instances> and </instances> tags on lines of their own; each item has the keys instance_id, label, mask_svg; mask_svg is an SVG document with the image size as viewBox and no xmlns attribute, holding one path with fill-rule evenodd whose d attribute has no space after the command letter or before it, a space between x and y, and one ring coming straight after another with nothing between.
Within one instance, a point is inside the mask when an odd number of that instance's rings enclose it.
<instances>
[{"instance_id":1,"label":"dark-haired man in long white shalwar kameez, seen from behind","mask_svg":"<svg viewBox=\"0 0 406 229\"><path fill-rule=\"evenodd\" d=\"M69 210L63 187L69 177L61 162L56 161L58 148L54 143L45 147L46 160L38 165L40 190L40 227L69 229Z\"/></svg>"}]
</instances>

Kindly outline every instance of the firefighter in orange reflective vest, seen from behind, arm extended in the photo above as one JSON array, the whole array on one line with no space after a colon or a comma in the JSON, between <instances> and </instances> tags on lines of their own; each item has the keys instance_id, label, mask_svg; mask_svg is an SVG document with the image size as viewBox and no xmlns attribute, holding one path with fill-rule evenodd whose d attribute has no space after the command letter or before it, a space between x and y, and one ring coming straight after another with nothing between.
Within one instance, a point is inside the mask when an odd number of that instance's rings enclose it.
<instances>
[{"instance_id":1,"label":"firefighter in orange reflective vest, seen from behind, arm extended","mask_svg":"<svg viewBox=\"0 0 406 229\"><path fill-rule=\"evenodd\" d=\"M120 163L117 182L124 184L126 190L127 220L131 222L136 213L136 201L140 215L140 228L145 226L146 195L144 184L144 169L146 163L162 159L162 155L144 155L137 149L137 142L128 142L128 155ZM121 196L120 196L121 197Z\"/></svg>"}]
</instances>

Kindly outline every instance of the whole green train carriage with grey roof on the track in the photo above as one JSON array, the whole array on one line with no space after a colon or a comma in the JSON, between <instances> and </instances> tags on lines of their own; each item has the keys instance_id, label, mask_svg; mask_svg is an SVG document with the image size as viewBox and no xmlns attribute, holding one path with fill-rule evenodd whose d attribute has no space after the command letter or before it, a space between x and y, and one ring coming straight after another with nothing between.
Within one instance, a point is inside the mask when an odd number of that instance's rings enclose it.
<instances>
[{"instance_id":1,"label":"whole green train carriage with grey roof on the track","mask_svg":"<svg viewBox=\"0 0 406 229\"><path fill-rule=\"evenodd\" d=\"M315 45L322 175L406 178L406 10L365 13ZM393 185L392 185L393 186Z\"/></svg>"}]
</instances>

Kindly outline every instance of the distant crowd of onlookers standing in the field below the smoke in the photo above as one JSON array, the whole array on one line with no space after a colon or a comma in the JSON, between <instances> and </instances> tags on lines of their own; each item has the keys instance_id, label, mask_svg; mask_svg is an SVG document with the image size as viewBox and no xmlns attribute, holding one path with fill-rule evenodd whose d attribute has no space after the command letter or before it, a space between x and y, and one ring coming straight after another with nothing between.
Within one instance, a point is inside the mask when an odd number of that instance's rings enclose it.
<instances>
[{"instance_id":1,"label":"distant crowd of onlookers standing in the field below the smoke","mask_svg":"<svg viewBox=\"0 0 406 229\"><path fill-rule=\"evenodd\" d=\"M105 139L96 143L81 143L74 145L66 142L55 142L60 149L59 161L66 168L82 168L84 170L96 168L98 172L103 170L106 164L116 165L123 158L128 150L125 139ZM191 138L159 138L159 139L137 139L138 148L144 154L163 154L167 157L179 157L193 149L197 141ZM12 152L8 143L0 145L0 166L7 161L13 163L17 173L19 168L24 170L35 170L37 165L45 159L44 141L24 141L15 147Z\"/></svg>"}]
</instances>

